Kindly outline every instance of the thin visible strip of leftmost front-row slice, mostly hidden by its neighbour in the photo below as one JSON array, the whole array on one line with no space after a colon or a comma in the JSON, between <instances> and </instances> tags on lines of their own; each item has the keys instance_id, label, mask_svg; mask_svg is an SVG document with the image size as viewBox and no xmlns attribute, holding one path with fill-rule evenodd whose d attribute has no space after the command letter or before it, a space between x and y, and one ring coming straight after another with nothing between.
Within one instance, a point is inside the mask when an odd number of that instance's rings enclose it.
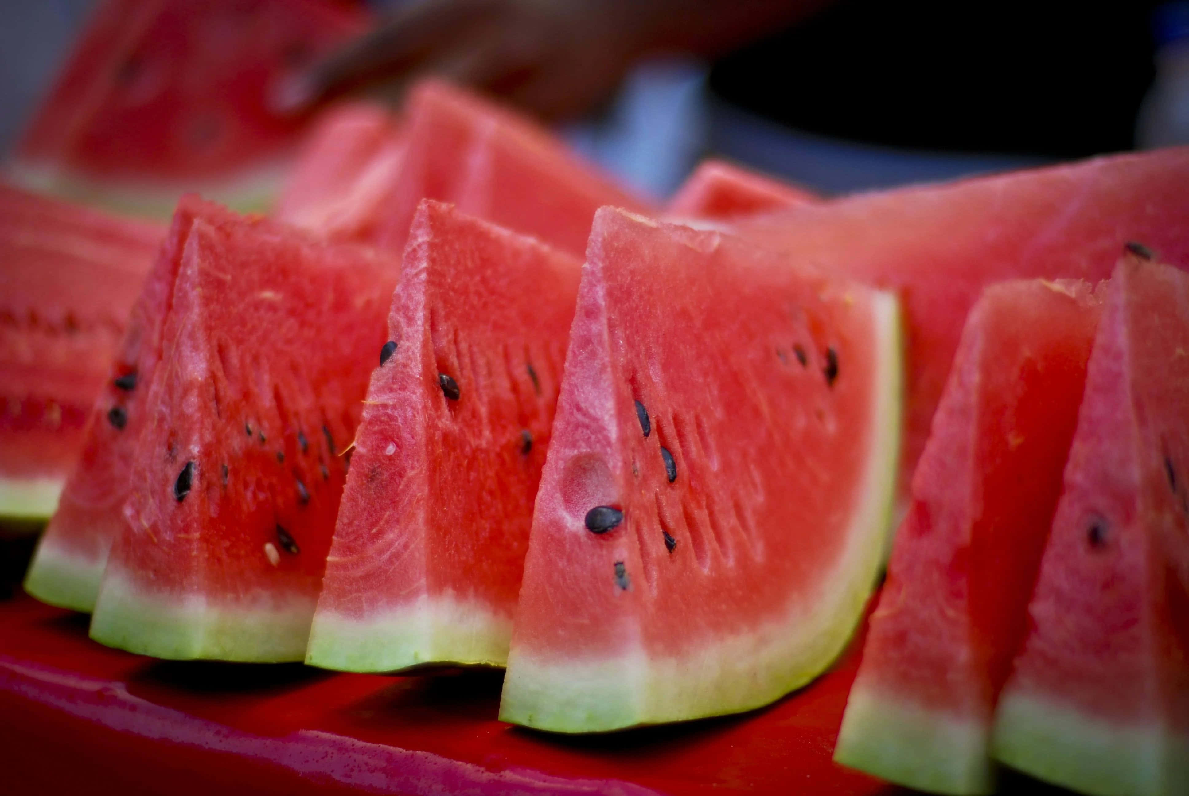
<instances>
[{"instance_id":1,"label":"thin visible strip of leftmost front-row slice, mostly hidden by its neighbour","mask_svg":"<svg viewBox=\"0 0 1189 796\"><path fill-rule=\"evenodd\" d=\"M238 222L234 213L196 196L178 205L114 362L105 363L103 383L87 409L81 455L25 577L25 589L43 602L83 612L95 607L108 550L125 524L122 507L133 488L128 472L150 410L149 384L161 362L182 251L199 217L209 224Z\"/></svg>"}]
</instances>

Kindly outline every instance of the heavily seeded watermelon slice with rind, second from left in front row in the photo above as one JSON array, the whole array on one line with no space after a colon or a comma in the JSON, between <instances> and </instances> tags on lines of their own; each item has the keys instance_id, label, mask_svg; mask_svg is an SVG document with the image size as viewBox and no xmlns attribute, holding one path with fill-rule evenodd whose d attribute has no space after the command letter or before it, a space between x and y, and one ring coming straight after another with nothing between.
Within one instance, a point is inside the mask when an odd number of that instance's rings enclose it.
<instances>
[{"instance_id":1,"label":"heavily seeded watermelon slice with rind, second from left in front row","mask_svg":"<svg viewBox=\"0 0 1189 796\"><path fill-rule=\"evenodd\" d=\"M163 658L300 660L392 269L202 214L177 256L90 634Z\"/></svg>"}]
</instances>

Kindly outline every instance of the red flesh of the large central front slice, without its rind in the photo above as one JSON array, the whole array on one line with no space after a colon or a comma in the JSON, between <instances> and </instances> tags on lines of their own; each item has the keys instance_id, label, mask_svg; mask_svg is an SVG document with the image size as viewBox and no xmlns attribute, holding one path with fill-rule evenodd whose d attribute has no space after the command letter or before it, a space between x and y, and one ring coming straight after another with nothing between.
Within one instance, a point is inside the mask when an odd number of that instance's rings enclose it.
<instances>
[{"instance_id":1,"label":"red flesh of the large central front slice, without its rind","mask_svg":"<svg viewBox=\"0 0 1189 796\"><path fill-rule=\"evenodd\" d=\"M697 660L817 600L876 435L872 301L716 232L599 211L512 654ZM591 533L596 506L623 522Z\"/></svg>"}]
</instances>

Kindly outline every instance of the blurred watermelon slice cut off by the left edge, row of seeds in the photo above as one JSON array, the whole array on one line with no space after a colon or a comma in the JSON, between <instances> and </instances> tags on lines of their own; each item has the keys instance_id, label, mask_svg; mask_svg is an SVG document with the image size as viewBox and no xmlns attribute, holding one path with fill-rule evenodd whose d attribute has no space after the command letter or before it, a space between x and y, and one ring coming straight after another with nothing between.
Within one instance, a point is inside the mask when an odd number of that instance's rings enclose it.
<instances>
[{"instance_id":1,"label":"blurred watermelon slice cut off by the left edge, row of seeds","mask_svg":"<svg viewBox=\"0 0 1189 796\"><path fill-rule=\"evenodd\" d=\"M0 184L0 516L54 513L163 234Z\"/></svg>"}]
</instances>

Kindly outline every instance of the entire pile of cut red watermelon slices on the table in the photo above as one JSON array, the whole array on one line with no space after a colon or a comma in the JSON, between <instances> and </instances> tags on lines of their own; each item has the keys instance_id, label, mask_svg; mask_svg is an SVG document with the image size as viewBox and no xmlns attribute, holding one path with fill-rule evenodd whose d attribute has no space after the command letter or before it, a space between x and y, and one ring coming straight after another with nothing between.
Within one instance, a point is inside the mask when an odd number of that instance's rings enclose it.
<instances>
[{"instance_id":1,"label":"entire pile of cut red watermelon slices on the table","mask_svg":"<svg viewBox=\"0 0 1189 796\"><path fill-rule=\"evenodd\" d=\"M206 50L145 42L257 24L212 123L243 145L178 143ZM292 144L253 115L277 48L357 25L111 0L23 170L243 176ZM99 641L507 666L507 721L609 731L810 682L891 550L841 761L1189 789L1189 150L833 201L711 162L667 222L428 81L322 115L272 218L171 207L0 193L0 497L70 469L26 588Z\"/></svg>"}]
</instances>

